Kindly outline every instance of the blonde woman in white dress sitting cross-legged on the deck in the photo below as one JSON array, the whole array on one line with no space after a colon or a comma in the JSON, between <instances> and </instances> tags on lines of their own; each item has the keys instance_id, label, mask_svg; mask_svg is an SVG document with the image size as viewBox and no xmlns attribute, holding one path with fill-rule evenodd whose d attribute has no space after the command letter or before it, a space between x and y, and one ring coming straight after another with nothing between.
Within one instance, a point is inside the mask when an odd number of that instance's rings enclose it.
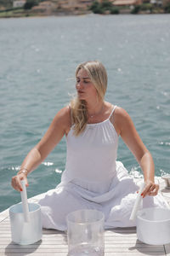
<instances>
[{"instance_id":1,"label":"blonde woman in white dress sitting cross-legged on the deck","mask_svg":"<svg viewBox=\"0 0 170 256\"><path fill-rule=\"evenodd\" d=\"M166 207L161 195L157 195L159 186L154 181L151 154L128 113L105 102L105 67L99 61L82 63L77 67L76 79L77 97L56 114L42 140L12 178L12 186L20 191L22 179L28 185L27 175L65 136L67 158L61 183L38 201L43 227L66 230L66 215L84 208L104 212L105 228L134 226L135 221L129 217L139 187L116 161L118 138L122 137L144 173L144 207Z\"/></svg>"}]
</instances>

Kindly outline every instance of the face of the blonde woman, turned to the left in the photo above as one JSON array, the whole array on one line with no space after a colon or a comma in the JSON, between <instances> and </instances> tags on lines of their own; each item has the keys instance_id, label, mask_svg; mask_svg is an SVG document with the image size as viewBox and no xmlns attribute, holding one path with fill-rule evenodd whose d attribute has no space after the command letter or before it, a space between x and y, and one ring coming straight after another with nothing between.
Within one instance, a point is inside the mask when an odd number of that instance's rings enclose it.
<instances>
[{"instance_id":1,"label":"face of the blonde woman, turned to the left","mask_svg":"<svg viewBox=\"0 0 170 256\"><path fill-rule=\"evenodd\" d=\"M98 96L97 90L94 84L88 77L88 73L85 69L81 68L77 73L77 95L80 100L88 101L89 99L94 99Z\"/></svg>"}]
</instances>

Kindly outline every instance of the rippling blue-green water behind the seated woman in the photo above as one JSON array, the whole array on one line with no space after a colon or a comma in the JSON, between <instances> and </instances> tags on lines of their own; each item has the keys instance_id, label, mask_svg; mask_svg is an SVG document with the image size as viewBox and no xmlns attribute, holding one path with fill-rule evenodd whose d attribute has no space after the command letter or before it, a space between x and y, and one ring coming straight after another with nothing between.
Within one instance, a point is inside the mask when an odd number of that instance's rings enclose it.
<instances>
[{"instance_id":1,"label":"rippling blue-green water behind the seated woman","mask_svg":"<svg viewBox=\"0 0 170 256\"><path fill-rule=\"evenodd\" d=\"M156 164L170 169L170 15L82 15L0 20L0 211L20 201L10 186L29 150L75 92L82 61L108 71L106 100L131 115ZM65 138L29 177L28 196L52 189L65 169ZM118 160L140 175L120 139Z\"/></svg>"}]
</instances>

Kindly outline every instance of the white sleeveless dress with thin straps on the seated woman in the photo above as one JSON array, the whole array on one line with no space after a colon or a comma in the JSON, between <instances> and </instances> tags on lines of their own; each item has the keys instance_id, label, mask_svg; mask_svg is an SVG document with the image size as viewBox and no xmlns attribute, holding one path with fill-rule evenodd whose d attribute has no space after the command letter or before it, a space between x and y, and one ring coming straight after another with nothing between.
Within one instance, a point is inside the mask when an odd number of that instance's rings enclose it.
<instances>
[{"instance_id":1,"label":"white sleeveless dress with thin straps on the seated woman","mask_svg":"<svg viewBox=\"0 0 170 256\"><path fill-rule=\"evenodd\" d=\"M116 161L118 136L111 115L103 122L88 124L78 137L71 127L61 183L38 201L44 228L66 230L66 215L79 209L104 212L105 229L135 226L129 217L139 186ZM143 207L167 207L167 203L161 195L146 196Z\"/></svg>"}]
</instances>

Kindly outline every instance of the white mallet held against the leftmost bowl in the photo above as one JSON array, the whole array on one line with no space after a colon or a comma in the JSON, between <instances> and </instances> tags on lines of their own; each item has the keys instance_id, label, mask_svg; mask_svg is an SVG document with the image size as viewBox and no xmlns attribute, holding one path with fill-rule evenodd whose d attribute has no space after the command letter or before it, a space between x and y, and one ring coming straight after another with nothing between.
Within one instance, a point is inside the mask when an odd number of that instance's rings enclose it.
<instances>
[{"instance_id":1,"label":"white mallet held against the leftmost bowl","mask_svg":"<svg viewBox=\"0 0 170 256\"><path fill-rule=\"evenodd\" d=\"M22 191L20 192L20 196L21 196L21 201L22 201L24 220L25 220L25 222L29 222L30 221L30 213L29 213L27 194L26 194L26 181L21 180L20 183L22 185Z\"/></svg>"}]
</instances>

